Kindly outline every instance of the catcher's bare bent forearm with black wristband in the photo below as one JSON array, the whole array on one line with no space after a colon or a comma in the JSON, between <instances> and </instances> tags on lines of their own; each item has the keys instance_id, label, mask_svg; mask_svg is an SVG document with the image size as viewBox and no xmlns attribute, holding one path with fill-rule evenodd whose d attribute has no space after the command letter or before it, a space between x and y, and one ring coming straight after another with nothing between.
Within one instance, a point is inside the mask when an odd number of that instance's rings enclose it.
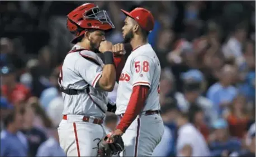
<instances>
[{"instance_id":1,"label":"catcher's bare bent forearm with black wristband","mask_svg":"<svg viewBox=\"0 0 256 157\"><path fill-rule=\"evenodd\" d=\"M116 83L116 68L113 60L112 52L105 52L105 66L102 69L102 76L98 84L105 91L113 91Z\"/></svg>"}]
</instances>

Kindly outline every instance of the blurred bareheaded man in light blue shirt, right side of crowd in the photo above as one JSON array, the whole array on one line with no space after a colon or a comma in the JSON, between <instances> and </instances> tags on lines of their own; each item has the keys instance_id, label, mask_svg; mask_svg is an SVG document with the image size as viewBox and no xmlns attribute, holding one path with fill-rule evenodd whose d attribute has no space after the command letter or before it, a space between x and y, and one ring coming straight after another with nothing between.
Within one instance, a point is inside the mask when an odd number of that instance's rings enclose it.
<instances>
[{"instance_id":1,"label":"blurred bareheaded man in light blue shirt, right side of crowd","mask_svg":"<svg viewBox=\"0 0 256 157\"><path fill-rule=\"evenodd\" d=\"M230 105L237 95L237 90L232 86L235 78L235 68L230 65L222 67L220 81L212 85L207 91L207 97L214 104L214 110L222 115L222 112Z\"/></svg>"}]
</instances>

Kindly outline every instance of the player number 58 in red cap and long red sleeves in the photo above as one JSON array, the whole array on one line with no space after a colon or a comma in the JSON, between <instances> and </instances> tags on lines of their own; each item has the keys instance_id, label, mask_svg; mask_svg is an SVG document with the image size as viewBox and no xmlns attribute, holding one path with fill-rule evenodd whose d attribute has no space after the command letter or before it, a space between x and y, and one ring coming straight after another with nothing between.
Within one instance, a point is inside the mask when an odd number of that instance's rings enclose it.
<instances>
[{"instance_id":1,"label":"player number 58 in red cap and long red sleeves","mask_svg":"<svg viewBox=\"0 0 256 157\"><path fill-rule=\"evenodd\" d=\"M130 43L132 52L118 82L116 114L121 120L108 140L122 135L125 143L123 156L151 156L164 133L163 120L159 115L161 67L148 43L148 35L154 28L154 17L145 8L121 11L127 16L122 27L124 43ZM112 52L124 54L124 43L113 46Z\"/></svg>"}]
</instances>

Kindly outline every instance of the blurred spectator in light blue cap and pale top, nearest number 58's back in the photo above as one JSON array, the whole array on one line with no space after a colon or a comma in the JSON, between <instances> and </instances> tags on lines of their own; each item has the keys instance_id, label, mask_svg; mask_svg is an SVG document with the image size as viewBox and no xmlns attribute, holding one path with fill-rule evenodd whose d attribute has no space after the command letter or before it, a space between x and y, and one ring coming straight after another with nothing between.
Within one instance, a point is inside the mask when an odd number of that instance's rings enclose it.
<instances>
[{"instance_id":1,"label":"blurred spectator in light blue cap and pale top, nearest number 58's back","mask_svg":"<svg viewBox=\"0 0 256 157\"><path fill-rule=\"evenodd\" d=\"M184 112L189 110L192 105L198 105L202 108L206 120L213 122L217 119L217 114L213 110L212 101L202 96L202 86L205 82L203 73L199 70L189 70L182 73L183 93L177 92L175 98L178 102L179 109Z\"/></svg>"}]
</instances>

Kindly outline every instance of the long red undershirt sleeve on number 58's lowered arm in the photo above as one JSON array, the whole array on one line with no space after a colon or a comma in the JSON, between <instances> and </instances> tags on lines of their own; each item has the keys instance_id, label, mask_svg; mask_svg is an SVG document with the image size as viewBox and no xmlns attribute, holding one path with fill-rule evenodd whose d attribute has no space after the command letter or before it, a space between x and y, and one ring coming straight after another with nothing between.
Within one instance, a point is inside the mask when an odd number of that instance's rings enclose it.
<instances>
[{"instance_id":1,"label":"long red undershirt sleeve on number 58's lowered arm","mask_svg":"<svg viewBox=\"0 0 256 157\"><path fill-rule=\"evenodd\" d=\"M127 109L116 129L120 129L125 133L132 121L134 121L136 116L138 116L143 110L146 97L148 96L148 91L149 87L144 85L138 85L132 88L132 94L127 105Z\"/></svg>"}]
</instances>

